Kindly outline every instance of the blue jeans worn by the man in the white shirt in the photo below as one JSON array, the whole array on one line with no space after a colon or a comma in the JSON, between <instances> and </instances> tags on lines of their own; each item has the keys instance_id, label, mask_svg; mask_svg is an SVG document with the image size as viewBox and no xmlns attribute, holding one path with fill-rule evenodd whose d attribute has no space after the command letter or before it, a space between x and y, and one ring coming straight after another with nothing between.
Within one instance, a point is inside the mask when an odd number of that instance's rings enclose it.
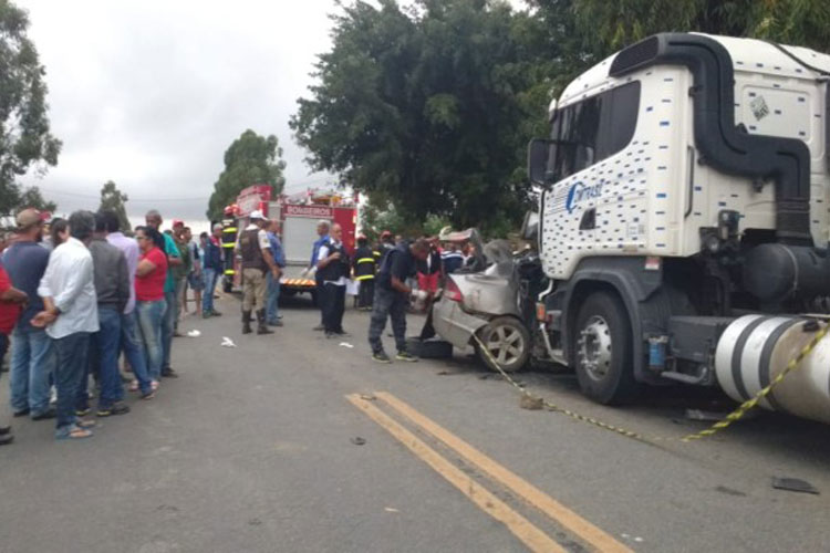
<instances>
[{"instance_id":1,"label":"blue jeans worn by the man in the white shirt","mask_svg":"<svg viewBox=\"0 0 830 553\"><path fill-rule=\"evenodd\" d=\"M60 431L75 424L75 399L86 374L90 353L90 333L76 332L69 336L53 340L56 355L54 385L58 389L58 420Z\"/></svg>"}]
</instances>

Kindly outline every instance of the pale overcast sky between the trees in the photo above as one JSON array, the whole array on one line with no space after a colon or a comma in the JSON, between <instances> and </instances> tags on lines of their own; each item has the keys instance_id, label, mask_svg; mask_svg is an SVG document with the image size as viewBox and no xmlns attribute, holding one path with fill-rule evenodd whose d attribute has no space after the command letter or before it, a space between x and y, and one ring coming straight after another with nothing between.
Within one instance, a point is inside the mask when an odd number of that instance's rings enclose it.
<instances>
[{"instance_id":1,"label":"pale overcast sky between the trees","mask_svg":"<svg viewBox=\"0 0 830 553\"><path fill-rule=\"evenodd\" d=\"M288 127L333 0L14 0L46 69L58 167L24 182L59 212L97 208L112 179L131 218L204 219L222 154L246 128L276 134L289 191L323 186Z\"/></svg>"}]
</instances>

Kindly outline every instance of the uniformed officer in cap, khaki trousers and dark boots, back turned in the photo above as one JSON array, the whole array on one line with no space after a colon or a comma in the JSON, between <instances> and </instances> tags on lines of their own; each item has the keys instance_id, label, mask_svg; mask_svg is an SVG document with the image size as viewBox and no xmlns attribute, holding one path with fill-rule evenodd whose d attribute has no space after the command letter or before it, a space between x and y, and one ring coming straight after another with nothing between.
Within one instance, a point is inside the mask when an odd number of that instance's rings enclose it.
<instances>
[{"instance_id":1,"label":"uniformed officer in cap, khaki trousers and dark boots, back turned","mask_svg":"<svg viewBox=\"0 0 830 553\"><path fill-rule=\"evenodd\" d=\"M266 292L270 272L279 279L280 270L271 254L271 242L268 239L266 220L262 211L255 210L250 225L239 234L237 251L242 257L242 334L250 334L251 312L257 307L257 334L273 334L266 323Z\"/></svg>"}]
</instances>

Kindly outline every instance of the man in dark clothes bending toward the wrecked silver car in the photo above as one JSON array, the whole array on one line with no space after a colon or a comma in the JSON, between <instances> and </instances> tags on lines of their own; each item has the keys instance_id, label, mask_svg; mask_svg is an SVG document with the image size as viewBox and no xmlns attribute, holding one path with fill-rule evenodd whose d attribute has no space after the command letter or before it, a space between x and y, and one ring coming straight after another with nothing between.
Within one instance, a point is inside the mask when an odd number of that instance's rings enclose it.
<instances>
[{"instance_id":1,"label":"man in dark clothes bending toward the wrecked silver car","mask_svg":"<svg viewBox=\"0 0 830 553\"><path fill-rule=\"evenodd\" d=\"M406 304L413 290L406 280L415 274L417 261L424 261L429 254L426 240L413 243L401 243L391 250L381 263L375 279L375 301L372 309L372 321L369 325L369 344L372 346L372 358L378 363L391 363L383 351L381 335L386 326L386 317L392 319L392 332L395 335L397 361L417 361L406 351ZM418 291L418 293L425 292Z\"/></svg>"}]
</instances>

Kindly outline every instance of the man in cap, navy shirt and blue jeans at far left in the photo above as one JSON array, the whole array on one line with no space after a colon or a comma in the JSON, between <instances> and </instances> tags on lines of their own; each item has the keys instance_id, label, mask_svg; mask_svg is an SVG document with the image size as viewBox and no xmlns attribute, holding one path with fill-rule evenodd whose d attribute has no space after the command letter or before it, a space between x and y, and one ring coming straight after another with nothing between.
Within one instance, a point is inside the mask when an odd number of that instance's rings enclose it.
<instances>
[{"instance_id":1,"label":"man in cap, navy shirt and blue jeans at far left","mask_svg":"<svg viewBox=\"0 0 830 553\"><path fill-rule=\"evenodd\" d=\"M54 417L49 407L49 380L54 372L52 341L45 330L31 321L43 311L38 284L49 264L49 250L41 247L43 216L37 209L24 209L17 217L17 239L3 252L3 264L11 284L29 296L11 340L11 407L15 417L31 415L34 420Z\"/></svg>"}]
</instances>

